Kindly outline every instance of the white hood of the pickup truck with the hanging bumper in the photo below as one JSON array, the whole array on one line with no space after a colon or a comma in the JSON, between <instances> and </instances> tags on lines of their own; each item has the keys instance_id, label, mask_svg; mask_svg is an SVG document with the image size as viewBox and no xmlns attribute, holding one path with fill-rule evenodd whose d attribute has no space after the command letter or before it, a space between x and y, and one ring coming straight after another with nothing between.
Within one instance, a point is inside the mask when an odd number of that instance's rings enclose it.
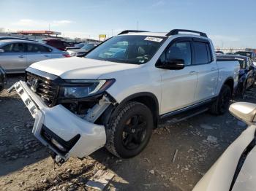
<instances>
[{"instance_id":1,"label":"white hood of the pickup truck with the hanging bumper","mask_svg":"<svg viewBox=\"0 0 256 191\"><path fill-rule=\"evenodd\" d=\"M99 79L102 74L136 69L140 65L74 57L39 61L30 67L54 74L62 79Z\"/></svg>"}]
</instances>

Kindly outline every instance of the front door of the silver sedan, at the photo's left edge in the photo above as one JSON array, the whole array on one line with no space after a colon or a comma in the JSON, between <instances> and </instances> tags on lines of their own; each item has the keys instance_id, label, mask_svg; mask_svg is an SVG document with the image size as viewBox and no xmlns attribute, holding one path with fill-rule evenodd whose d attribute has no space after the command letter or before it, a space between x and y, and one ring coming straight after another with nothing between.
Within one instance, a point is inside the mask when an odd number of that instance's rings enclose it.
<instances>
[{"instance_id":1,"label":"front door of the silver sedan, at the photo's left edge","mask_svg":"<svg viewBox=\"0 0 256 191\"><path fill-rule=\"evenodd\" d=\"M1 47L0 66L7 73L19 73L26 69L26 52L23 43L10 43Z\"/></svg>"}]
</instances>

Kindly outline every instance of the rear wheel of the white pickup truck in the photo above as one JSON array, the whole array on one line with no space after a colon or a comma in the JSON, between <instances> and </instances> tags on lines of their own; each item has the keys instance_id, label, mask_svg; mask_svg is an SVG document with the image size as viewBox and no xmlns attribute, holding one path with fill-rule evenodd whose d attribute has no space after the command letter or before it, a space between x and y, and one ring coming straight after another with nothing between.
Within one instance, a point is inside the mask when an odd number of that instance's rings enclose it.
<instances>
[{"instance_id":1,"label":"rear wheel of the white pickup truck","mask_svg":"<svg viewBox=\"0 0 256 191\"><path fill-rule=\"evenodd\" d=\"M220 115L227 112L231 96L232 93L230 87L228 85L223 85L217 100L211 105L211 114Z\"/></svg>"}]
</instances>

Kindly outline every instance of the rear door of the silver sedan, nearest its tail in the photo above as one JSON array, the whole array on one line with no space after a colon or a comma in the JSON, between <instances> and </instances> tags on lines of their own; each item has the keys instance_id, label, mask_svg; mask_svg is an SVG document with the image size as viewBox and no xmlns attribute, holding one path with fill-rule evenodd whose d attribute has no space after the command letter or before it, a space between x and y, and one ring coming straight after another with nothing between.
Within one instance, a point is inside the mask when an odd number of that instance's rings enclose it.
<instances>
[{"instance_id":1,"label":"rear door of the silver sedan, nearest its tail","mask_svg":"<svg viewBox=\"0 0 256 191\"><path fill-rule=\"evenodd\" d=\"M27 67L29 67L32 63L51 58L51 51L52 50L50 48L41 44L26 43Z\"/></svg>"}]
</instances>

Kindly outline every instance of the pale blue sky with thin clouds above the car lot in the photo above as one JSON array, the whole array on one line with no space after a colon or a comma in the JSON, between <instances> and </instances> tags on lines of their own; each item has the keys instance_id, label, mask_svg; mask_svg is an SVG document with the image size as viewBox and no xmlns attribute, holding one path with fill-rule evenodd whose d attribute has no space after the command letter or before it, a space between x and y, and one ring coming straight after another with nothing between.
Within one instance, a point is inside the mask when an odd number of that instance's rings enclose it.
<instances>
[{"instance_id":1,"label":"pale blue sky with thin clouds above the car lot","mask_svg":"<svg viewBox=\"0 0 256 191\"><path fill-rule=\"evenodd\" d=\"M203 31L215 47L256 47L255 0L0 0L5 31L98 39L127 29Z\"/></svg>"}]
</instances>

